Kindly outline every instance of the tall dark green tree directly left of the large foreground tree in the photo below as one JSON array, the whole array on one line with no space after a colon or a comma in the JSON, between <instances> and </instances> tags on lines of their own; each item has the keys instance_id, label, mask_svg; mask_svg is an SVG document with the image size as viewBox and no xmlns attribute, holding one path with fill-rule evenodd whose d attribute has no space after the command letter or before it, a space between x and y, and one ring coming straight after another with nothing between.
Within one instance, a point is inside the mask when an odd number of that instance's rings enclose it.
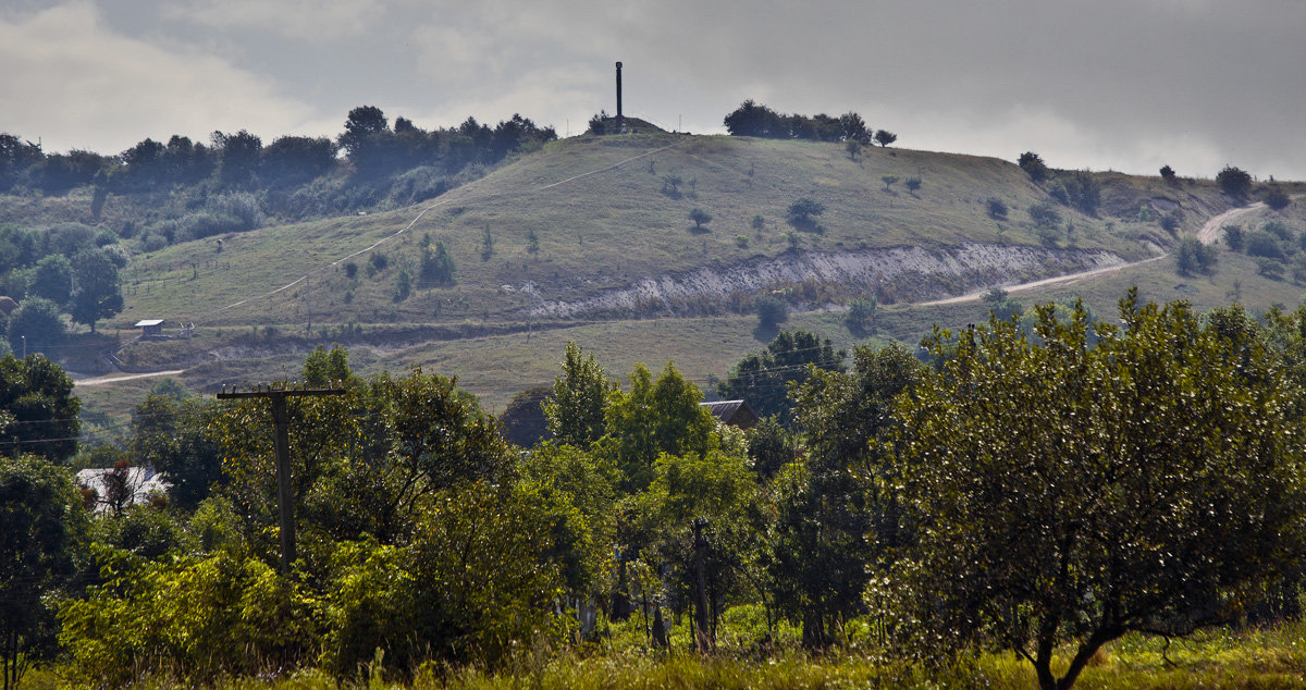
<instances>
[{"instance_id":1,"label":"tall dark green tree directly left of the large foreground tree","mask_svg":"<svg viewBox=\"0 0 1306 690\"><path fill-rule=\"evenodd\" d=\"M900 346L853 352L853 371L811 370L795 391L804 460L776 481L780 498L771 570L777 601L802 619L803 644L825 647L857 616L862 591L885 554L905 544L882 443L893 400L923 375Z\"/></svg>"}]
</instances>

